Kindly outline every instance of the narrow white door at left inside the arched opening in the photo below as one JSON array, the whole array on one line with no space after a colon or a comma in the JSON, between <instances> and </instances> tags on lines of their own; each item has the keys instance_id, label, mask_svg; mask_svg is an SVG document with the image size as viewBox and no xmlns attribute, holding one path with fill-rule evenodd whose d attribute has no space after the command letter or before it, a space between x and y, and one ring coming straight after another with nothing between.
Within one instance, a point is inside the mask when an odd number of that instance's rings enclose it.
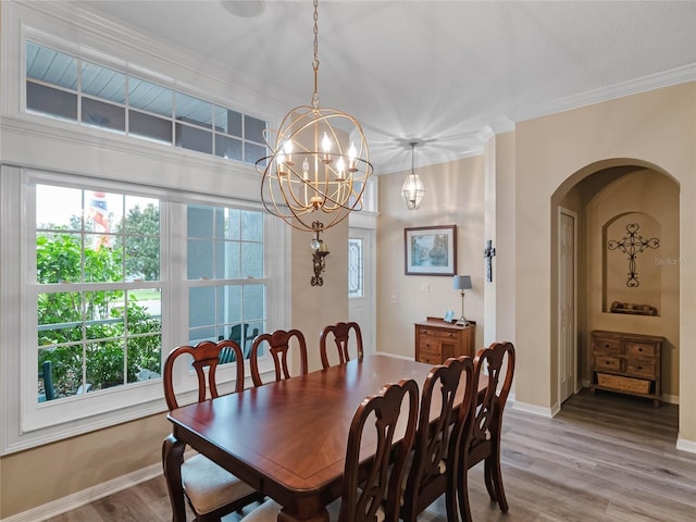
<instances>
[{"instance_id":1,"label":"narrow white door at left inside the arched opening","mask_svg":"<svg viewBox=\"0 0 696 522\"><path fill-rule=\"evenodd\" d=\"M559 403L575 393L577 382L575 217L574 212L560 209L558 223Z\"/></svg>"}]
</instances>

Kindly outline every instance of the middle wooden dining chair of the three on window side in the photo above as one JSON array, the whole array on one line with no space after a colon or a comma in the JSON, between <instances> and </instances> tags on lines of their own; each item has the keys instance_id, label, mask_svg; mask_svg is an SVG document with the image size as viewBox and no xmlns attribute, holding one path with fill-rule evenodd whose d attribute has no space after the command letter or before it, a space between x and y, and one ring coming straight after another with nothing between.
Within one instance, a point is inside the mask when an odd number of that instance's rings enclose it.
<instances>
[{"instance_id":1,"label":"middle wooden dining chair of the three on window side","mask_svg":"<svg viewBox=\"0 0 696 522\"><path fill-rule=\"evenodd\" d=\"M304 335L299 330L276 330L272 334L261 334L253 339L251 344L251 353L249 355L249 365L251 366L251 381L254 386L261 386L261 373L259 371L259 355L261 349L268 344L269 353L273 358L275 369L275 381L290 378L290 366L288 359L290 356L290 346L295 346L299 350L300 356L300 375L309 372L307 362L307 343Z\"/></svg>"}]
</instances>

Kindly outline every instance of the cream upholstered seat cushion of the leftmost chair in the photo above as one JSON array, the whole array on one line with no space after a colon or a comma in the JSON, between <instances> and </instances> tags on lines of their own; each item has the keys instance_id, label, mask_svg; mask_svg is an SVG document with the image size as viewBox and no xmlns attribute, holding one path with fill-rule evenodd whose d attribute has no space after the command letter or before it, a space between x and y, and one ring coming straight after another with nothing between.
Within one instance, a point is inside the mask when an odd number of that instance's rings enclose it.
<instances>
[{"instance_id":1,"label":"cream upholstered seat cushion of the leftmost chair","mask_svg":"<svg viewBox=\"0 0 696 522\"><path fill-rule=\"evenodd\" d=\"M254 490L202 455L184 461L182 483L186 496L199 514L210 513Z\"/></svg>"}]
</instances>

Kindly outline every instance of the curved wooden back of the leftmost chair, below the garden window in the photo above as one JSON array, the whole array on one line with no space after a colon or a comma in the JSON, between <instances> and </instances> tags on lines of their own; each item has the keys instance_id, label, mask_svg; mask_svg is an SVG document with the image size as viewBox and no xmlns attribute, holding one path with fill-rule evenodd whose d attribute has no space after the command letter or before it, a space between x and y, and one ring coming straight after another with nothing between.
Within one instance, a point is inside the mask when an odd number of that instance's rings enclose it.
<instances>
[{"instance_id":1,"label":"curved wooden back of the leftmost chair, below the garden window","mask_svg":"<svg viewBox=\"0 0 696 522\"><path fill-rule=\"evenodd\" d=\"M181 356L187 353L192 358L192 368L198 378L198 401L202 402L210 395L211 398L217 397L216 370L220 363L220 355L223 351L233 351L235 353L234 364L236 369L236 387L235 391L244 389L244 358L241 348L234 340L224 339L217 343L212 340L203 340L196 346L179 346L174 348L164 361L164 373L162 375L164 384L164 399L170 411L179 407L174 390L174 362Z\"/></svg>"}]
</instances>

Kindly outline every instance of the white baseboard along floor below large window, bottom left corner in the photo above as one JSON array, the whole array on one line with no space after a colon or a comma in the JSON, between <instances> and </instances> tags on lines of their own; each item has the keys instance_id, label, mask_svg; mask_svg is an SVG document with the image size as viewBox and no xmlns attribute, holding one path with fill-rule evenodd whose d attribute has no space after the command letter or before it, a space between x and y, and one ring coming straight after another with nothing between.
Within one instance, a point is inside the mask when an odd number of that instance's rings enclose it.
<instances>
[{"instance_id":1,"label":"white baseboard along floor below large window, bottom left corner","mask_svg":"<svg viewBox=\"0 0 696 522\"><path fill-rule=\"evenodd\" d=\"M22 513L13 514L12 517L2 519L0 522L41 522L94 502L95 500L99 500L100 498L108 497L116 492L127 489L141 482L154 478L160 474L162 474L162 464L158 462L157 464L128 473L127 475L102 482L82 492L73 493L72 495L32 508Z\"/></svg>"}]
</instances>

